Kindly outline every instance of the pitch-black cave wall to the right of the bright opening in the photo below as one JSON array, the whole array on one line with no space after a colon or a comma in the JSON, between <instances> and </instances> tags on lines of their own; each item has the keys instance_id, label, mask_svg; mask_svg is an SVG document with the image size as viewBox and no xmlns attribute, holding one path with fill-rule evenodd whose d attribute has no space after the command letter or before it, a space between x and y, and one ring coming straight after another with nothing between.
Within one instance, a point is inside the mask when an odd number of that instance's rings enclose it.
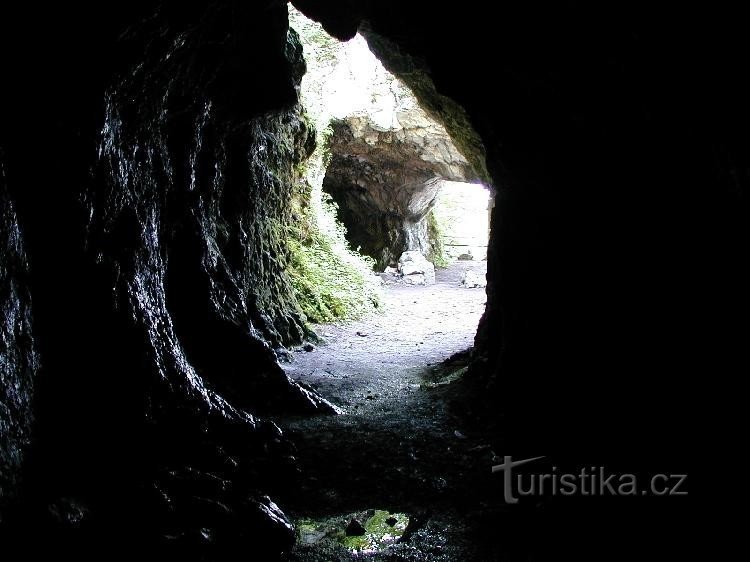
<instances>
[{"instance_id":1,"label":"pitch-black cave wall to the right of the bright opening","mask_svg":"<svg viewBox=\"0 0 750 562\"><path fill-rule=\"evenodd\" d=\"M484 390L474 401L497 420L497 451L599 451L594 462L648 473L690 466L712 421L723 441L743 410L726 405L727 388L747 364L739 12L295 5L340 37L366 21L386 68L443 117L469 161L482 141L497 194L472 372ZM710 404L729 419L696 409ZM648 544L650 557L674 557L695 536L684 504L618 500L542 502L490 529L505 529L511 557L544 560L609 555L625 529L637 538L622 556Z\"/></svg>"}]
</instances>

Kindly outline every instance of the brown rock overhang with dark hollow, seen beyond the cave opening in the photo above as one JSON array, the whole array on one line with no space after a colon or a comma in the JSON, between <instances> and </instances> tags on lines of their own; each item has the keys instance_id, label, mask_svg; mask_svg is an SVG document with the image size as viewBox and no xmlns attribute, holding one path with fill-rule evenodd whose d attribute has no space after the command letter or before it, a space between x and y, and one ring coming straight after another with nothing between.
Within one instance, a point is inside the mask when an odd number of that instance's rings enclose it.
<instances>
[{"instance_id":1,"label":"brown rock overhang with dark hollow, seen beyond the cave opening","mask_svg":"<svg viewBox=\"0 0 750 562\"><path fill-rule=\"evenodd\" d=\"M425 219L439 180L470 177L445 130L417 107L397 109L390 123L335 121L331 156L323 188L338 203L351 244L381 268L406 250L431 253Z\"/></svg>"}]
</instances>

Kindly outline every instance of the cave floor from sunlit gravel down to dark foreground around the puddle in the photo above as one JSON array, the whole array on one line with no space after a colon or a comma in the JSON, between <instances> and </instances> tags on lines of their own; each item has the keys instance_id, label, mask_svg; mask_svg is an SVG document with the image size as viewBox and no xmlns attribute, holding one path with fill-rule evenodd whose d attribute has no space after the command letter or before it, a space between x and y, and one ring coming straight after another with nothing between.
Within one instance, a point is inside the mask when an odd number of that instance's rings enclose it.
<instances>
[{"instance_id":1,"label":"cave floor from sunlit gravel down to dark foreground around the puddle","mask_svg":"<svg viewBox=\"0 0 750 562\"><path fill-rule=\"evenodd\" d=\"M343 412L276 420L302 469L298 485L277 496L302 529L289 560L495 558L493 530L481 521L497 503L494 453L486 432L467 425L466 402L453 401L467 364L460 352L486 301L460 279L485 268L457 262L431 286L387 285L383 313L318 326L324 342L285 365ZM370 551L333 540L368 510L408 515L409 540Z\"/></svg>"}]
</instances>

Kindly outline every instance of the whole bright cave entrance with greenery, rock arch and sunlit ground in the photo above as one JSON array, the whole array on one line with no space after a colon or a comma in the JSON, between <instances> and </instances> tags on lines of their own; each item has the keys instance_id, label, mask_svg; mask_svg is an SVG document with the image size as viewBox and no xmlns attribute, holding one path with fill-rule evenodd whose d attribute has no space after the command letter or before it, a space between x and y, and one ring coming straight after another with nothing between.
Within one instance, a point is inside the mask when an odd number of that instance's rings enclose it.
<instances>
[{"instance_id":1,"label":"whole bright cave entrance with greenery, rock arch and sunlit ground","mask_svg":"<svg viewBox=\"0 0 750 562\"><path fill-rule=\"evenodd\" d=\"M403 390L399 373L424 372L472 346L486 302L492 197L362 35L341 42L292 7L290 27L304 52L300 98L317 141L297 205L317 234L296 249L292 276L325 341L305 346L316 353L301 353L290 370L307 373L304 382L344 410L359 409L344 387L361 387L370 403ZM338 367L373 377L342 386L310 375Z\"/></svg>"}]
</instances>

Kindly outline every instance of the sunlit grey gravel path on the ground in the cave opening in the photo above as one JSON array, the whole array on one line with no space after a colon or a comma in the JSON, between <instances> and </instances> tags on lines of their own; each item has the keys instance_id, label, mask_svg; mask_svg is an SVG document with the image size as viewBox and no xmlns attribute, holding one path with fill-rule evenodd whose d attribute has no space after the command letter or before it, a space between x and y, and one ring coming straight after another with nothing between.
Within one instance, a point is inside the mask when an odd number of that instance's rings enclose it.
<instances>
[{"instance_id":1,"label":"sunlit grey gravel path on the ground in the cave opening","mask_svg":"<svg viewBox=\"0 0 750 562\"><path fill-rule=\"evenodd\" d=\"M461 286L466 270L484 275L486 262L438 269L430 286L386 285L383 314L319 326L324 344L295 353L287 372L349 415L401 409L428 367L474 343L487 299L484 289Z\"/></svg>"}]
</instances>

